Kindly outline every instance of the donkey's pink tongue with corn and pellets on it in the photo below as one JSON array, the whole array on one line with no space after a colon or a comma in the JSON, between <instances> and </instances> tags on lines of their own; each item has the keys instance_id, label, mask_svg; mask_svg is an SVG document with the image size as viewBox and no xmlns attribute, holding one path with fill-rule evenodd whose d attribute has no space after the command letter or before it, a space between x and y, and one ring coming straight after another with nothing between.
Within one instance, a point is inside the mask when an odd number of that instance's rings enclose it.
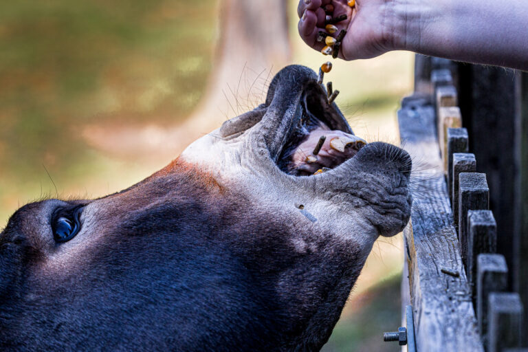
<instances>
[{"instance_id":1,"label":"donkey's pink tongue with corn and pellets on it","mask_svg":"<svg viewBox=\"0 0 528 352\"><path fill-rule=\"evenodd\" d=\"M325 142L314 155L323 135L326 137ZM292 166L304 175L316 173L320 168L335 168L353 157L365 144L362 138L353 134L320 126L311 131L307 139L293 151Z\"/></svg>"}]
</instances>

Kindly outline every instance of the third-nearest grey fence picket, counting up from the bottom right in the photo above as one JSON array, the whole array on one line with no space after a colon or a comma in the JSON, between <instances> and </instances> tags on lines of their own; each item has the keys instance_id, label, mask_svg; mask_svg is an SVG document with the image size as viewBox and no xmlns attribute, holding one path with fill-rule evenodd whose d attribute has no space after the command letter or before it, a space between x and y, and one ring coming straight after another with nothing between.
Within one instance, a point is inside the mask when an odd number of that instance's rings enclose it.
<instances>
[{"instance_id":1,"label":"third-nearest grey fence picket, counting up from the bottom right","mask_svg":"<svg viewBox=\"0 0 528 352\"><path fill-rule=\"evenodd\" d=\"M497 250L497 224L491 210L467 212L467 282L472 287L473 304L476 304L476 259L478 254Z\"/></svg>"}]
</instances>

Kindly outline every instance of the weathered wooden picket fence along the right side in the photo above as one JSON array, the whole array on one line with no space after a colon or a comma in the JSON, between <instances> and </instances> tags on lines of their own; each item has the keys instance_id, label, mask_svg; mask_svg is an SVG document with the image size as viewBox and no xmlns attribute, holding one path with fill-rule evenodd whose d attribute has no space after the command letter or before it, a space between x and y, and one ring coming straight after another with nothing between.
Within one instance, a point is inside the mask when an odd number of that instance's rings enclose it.
<instances>
[{"instance_id":1,"label":"weathered wooden picket fence along the right side","mask_svg":"<svg viewBox=\"0 0 528 352\"><path fill-rule=\"evenodd\" d=\"M526 74L416 56L398 111L410 352L528 351L527 97Z\"/></svg>"}]
</instances>

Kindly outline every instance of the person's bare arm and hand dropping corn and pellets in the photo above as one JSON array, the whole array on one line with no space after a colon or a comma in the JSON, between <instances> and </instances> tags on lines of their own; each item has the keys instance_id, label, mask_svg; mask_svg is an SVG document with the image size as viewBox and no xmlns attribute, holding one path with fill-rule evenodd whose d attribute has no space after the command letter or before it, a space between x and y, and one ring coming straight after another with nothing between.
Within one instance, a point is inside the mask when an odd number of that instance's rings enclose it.
<instances>
[{"instance_id":1,"label":"person's bare arm and hand dropping corn and pellets","mask_svg":"<svg viewBox=\"0 0 528 352\"><path fill-rule=\"evenodd\" d=\"M324 6L346 29L339 57L373 58L392 50L408 50L455 61L498 65L528 71L528 1L481 0L300 0L298 30L315 50L325 28ZM333 34L337 36L338 33Z\"/></svg>"}]
</instances>

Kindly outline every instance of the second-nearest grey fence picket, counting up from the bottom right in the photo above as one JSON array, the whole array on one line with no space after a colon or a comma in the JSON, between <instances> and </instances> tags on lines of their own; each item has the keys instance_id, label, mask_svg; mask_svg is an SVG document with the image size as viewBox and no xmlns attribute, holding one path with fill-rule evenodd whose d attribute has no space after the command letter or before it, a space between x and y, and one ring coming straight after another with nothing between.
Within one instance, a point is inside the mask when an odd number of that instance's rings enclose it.
<instances>
[{"instance_id":1,"label":"second-nearest grey fence picket, counting up from the bottom right","mask_svg":"<svg viewBox=\"0 0 528 352\"><path fill-rule=\"evenodd\" d=\"M487 298L491 292L502 292L508 287L508 268L502 254L479 254L476 259L476 318L484 343L487 340Z\"/></svg>"}]
</instances>

